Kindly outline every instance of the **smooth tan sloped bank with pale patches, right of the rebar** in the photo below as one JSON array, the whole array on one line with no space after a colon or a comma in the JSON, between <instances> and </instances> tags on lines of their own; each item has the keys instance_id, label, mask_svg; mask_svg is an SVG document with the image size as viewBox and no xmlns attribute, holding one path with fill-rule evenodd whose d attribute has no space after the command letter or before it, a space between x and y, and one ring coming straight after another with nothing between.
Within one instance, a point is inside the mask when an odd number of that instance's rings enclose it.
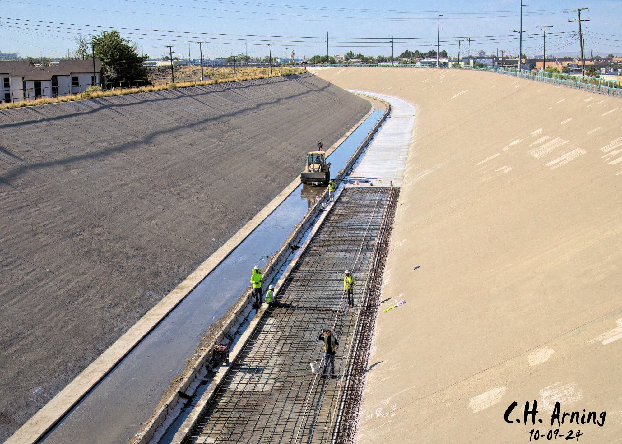
<instances>
[{"instance_id":1,"label":"smooth tan sloped bank with pale patches, right of the rebar","mask_svg":"<svg viewBox=\"0 0 622 444\"><path fill-rule=\"evenodd\" d=\"M380 307L360 442L616 442L622 100L460 70L317 75L417 107L383 293L406 303ZM551 427L556 401L605 425Z\"/></svg>"}]
</instances>

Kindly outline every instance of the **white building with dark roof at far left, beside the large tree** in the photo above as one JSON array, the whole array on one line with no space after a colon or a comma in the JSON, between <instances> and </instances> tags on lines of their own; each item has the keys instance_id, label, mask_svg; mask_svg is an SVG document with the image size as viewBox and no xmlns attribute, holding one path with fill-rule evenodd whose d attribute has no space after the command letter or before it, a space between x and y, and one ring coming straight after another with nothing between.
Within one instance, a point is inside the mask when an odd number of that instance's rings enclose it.
<instances>
[{"instance_id":1,"label":"white building with dark roof at far left, beside the large tree","mask_svg":"<svg viewBox=\"0 0 622 444\"><path fill-rule=\"evenodd\" d=\"M30 61L0 63L2 101L36 100L82 93L91 85L100 85L101 62L60 60L56 67L36 67Z\"/></svg>"}]
</instances>

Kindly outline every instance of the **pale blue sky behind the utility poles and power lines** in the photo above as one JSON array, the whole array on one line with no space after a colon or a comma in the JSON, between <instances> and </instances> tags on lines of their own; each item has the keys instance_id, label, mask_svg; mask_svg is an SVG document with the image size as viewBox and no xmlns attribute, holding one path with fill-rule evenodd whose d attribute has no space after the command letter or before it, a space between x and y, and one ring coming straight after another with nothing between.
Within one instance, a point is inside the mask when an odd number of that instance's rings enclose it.
<instances>
[{"instance_id":1,"label":"pale blue sky behind the utility poles and power lines","mask_svg":"<svg viewBox=\"0 0 622 444\"><path fill-rule=\"evenodd\" d=\"M547 31L547 53L576 55L578 37L573 34L578 26L568 21L576 19L577 14L566 11L585 6L589 11L582 12L582 17L591 19L584 27L584 30L587 27L586 56L589 57L590 50L594 55L622 54L622 0L524 2L529 4L523 10L523 29L527 30L523 52L527 55L542 53L542 33L537 29L540 25L553 26ZM345 53L348 49L389 55L391 35L396 41L394 53L398 55L405 49L434 49L432 44L437 35L434 11L440 7L443 14L441 49L455 55L458 46L454 39L473 36L476 39L471 42L472 53L479 49L488 53L503 49L506 54L517 54L518 35L509 30L519 29L520 4L520 0L0 0L0 16L3 17L0 19L0 51L33 56L40 52L67 55L75 46L73 37L76 34L92 34L89 29L116 28L139 42L144 52L152 57L161 57L167 44L176 45L177 57L182 54L188 57L190 44L192 57L197 57L198 44L193 43L197 40L207 42L203 44L204 57L245 52L245 40L248 53L253 57L267 55L266 44L272 42L276 55L289 54L293 49L295 57L311 56L326 53L327 32L331 55ZM15 19L22 19L22 22ZM466 55L466 42L460 52Z\"/></svg>"}]
</instances>

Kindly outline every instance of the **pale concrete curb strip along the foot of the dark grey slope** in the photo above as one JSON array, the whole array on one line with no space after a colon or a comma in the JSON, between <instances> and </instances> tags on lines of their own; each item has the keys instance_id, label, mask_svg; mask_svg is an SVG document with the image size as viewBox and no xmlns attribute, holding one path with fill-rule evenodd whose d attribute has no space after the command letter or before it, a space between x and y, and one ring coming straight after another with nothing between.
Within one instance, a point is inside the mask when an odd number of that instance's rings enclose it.
<instances>
[{"instance_id":1,"label":"pale concrete curb strip along the foot of the dark grey slope","mask_svg":"<svg viewBox=\"0 0 622 444\"><path fill-rule=\"evenodd\" d=\"M333 152L345 141L361 123L374 111L374 106L353 127L338 139L328 150ZM109 346L95 361L84 369L72 382L58 392L52 400L15 432L5 444L35 444L49 432L75 405L80 402L132 349L153 330L172 310L185 298L220 262L253 232L264 219L269 216L295 188L300 185L300 177L295 178L272 201L262 208L238 233L231 236L208 259L197 267L175 289L167 294L149 312L126 331L113 345ZM289 239L288 239L289 241ZM239 304L239 300L236 305ZM241 308L243 310L243 308Z\"/></svg>"}]
</instances>

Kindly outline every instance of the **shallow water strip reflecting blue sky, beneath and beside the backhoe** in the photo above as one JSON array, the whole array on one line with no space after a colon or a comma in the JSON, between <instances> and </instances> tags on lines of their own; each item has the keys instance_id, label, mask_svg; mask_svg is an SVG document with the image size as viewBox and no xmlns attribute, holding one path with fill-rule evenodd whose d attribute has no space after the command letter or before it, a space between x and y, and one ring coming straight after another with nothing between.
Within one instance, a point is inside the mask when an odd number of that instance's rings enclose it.
<instances>
[{"instance_id":1,"label":"shallow water strip reflecting blue sky, beneath and beside the backhoe","mask_svg":"<svg viewBox=\"0 0 622 444\"><path fill-rule=\"evenodd\" d=\"M383 114L376 109L328 156L333 176ZM324 190L297 187L40 442L123 443L134 436L183 371L205 330L249 286L251 269L266 264Z\"/></svg>"}]
</instances>

